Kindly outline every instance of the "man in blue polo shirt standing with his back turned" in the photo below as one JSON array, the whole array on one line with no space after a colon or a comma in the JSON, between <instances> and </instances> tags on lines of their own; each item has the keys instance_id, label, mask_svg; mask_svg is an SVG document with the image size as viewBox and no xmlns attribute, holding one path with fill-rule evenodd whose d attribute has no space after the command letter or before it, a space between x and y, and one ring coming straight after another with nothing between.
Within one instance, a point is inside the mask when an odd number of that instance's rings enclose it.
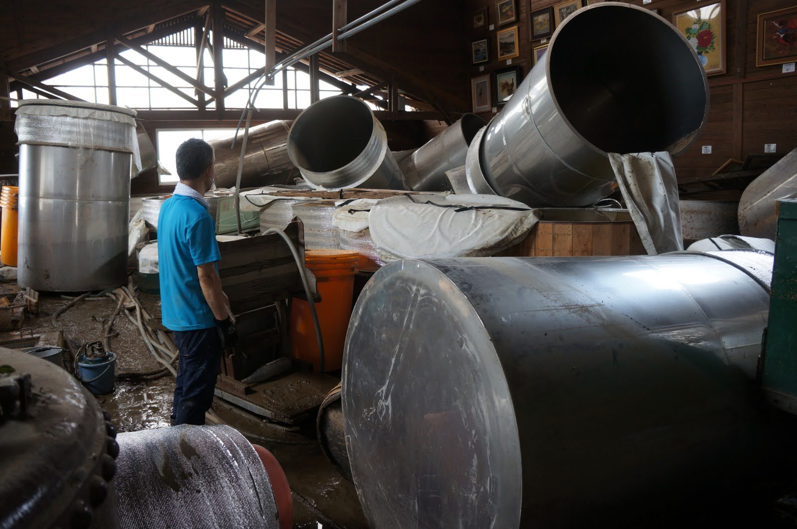
<instances>
[{"instance_id":1,"label":"man in blue polo shirt standing with his back turned","mask_svg":"<svg viewBox=\"0 0 797 529\"><path fill-rule=\"evenodd\" d=\"M204 197L215 187L213 147L189 139L176 159L180 182L158 217L161 314L180 355L171 421L203 425L222 351L236 338L235 323L218 276L222 257Z\"/></svg>"}]
</instances>

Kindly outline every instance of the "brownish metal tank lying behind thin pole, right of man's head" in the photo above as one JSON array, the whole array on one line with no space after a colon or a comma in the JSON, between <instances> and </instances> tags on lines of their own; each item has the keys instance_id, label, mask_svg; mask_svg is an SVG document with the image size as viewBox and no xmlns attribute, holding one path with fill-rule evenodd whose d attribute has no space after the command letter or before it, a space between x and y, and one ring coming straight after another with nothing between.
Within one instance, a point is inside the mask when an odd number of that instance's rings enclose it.
<instances>
[{"instance_id":1,"label":"brownish metal tank lying behind thin pole, right of man's head","mask_svg":"<svg viewBox=\"0 0 797 529\"><path fill-rule=\"evenodd\" d=\"M294 167L287 150L290 124L290 121L269 121L249 129L241 188L291 183L288 180ZM208 142L216 155L214 173L218 187L234 187L238 178L243 131L238 131L235 147L230 148L233 137L230 135Z\"/></svg>"}]
</instances>

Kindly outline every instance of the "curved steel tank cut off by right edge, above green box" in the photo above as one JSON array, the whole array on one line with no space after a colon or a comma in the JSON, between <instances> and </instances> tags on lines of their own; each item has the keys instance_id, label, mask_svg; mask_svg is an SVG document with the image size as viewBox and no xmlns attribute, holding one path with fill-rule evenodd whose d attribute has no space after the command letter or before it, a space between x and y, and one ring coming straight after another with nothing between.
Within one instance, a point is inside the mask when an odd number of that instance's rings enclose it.
<instances>
[{"instance_id":1,"label":"curved steel tank cut off by right edge, above green box","mask_svg":"<svg viewBox=\"0 0 797 529\"><path fill-rule=\"evenodd\" d=\"M797 197L797 149L753 180L742 194L737 216L741 235L775 240L777 202Z\"/></svg>"}]
</instances>

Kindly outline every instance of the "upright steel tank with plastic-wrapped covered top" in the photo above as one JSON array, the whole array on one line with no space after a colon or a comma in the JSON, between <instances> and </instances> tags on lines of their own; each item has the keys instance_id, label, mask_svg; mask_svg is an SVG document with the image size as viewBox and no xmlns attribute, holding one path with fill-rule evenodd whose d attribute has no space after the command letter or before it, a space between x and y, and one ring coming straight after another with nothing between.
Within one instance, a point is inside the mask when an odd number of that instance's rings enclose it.
<instances>
[{"instance_id":1,"label":"upright steel tank with plastic-wrapped covered top","mask_svg":"<svg viewBox=\"0 0 797 529\"><path fill-rule=\"evenodd\" d=\"M83 101L20 104L20 286L74 292L127 281L134 116Z\"/></svg>"}]
</instances>

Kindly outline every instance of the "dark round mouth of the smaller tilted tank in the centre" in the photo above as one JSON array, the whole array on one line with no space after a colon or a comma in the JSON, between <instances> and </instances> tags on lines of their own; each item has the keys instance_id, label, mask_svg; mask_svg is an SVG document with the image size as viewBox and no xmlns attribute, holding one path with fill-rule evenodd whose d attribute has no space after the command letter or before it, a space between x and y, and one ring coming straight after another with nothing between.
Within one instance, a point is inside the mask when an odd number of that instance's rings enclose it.
<instances>
[{"instance_id":1,"label":"dark round mouth of the smaller tilted tank in the centre","mask_svg":"<svg viewBox=\"0 0 797 529\"><path fill-rule=\"evenodd\" d=\"M325 173L347 166L365 149L374 117L363 101L329 97L308 107L293 122L288 155L296 167Z\"/></svg>"}]
</instances>

